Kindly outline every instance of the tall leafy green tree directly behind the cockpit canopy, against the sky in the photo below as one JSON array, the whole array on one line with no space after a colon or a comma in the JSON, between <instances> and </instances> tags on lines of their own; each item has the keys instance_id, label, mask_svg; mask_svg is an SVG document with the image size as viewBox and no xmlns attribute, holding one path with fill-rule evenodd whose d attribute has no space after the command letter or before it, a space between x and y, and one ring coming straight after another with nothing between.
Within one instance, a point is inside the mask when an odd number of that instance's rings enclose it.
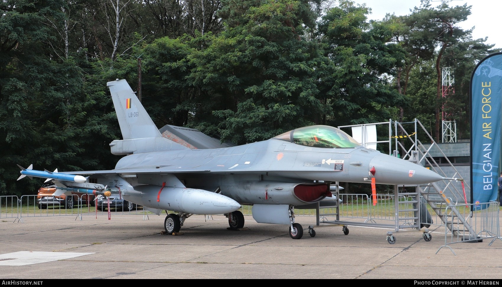
<instances>
[{"instance_id":1,"label":"tall leafy green tree directly behind the cockpit canopy, against the sky","mask_svg":"<svg viewBox=\"0 0 502 287\"><path fill-rule=\"evenodd\" d=\"M404 51L390 42L392 27L370 25L367 13L364 6L342 1L319 23L326 56L332 61L331 73L321 83L335 111L328 124L385 121L392 115L390 107L405 104L406 99L389 87L387 79L396 74Z\"/></svg>"}]
</instances>

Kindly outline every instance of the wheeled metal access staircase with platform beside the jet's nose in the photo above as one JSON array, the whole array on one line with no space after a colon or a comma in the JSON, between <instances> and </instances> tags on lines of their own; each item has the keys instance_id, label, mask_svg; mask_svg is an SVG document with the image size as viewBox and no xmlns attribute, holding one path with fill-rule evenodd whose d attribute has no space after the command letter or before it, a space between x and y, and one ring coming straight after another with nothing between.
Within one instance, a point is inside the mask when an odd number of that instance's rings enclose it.
<instances>
[{"instance_id":1,"label":"wheeled metal access staircase with platform beside the jet's nose","mask_svg":"<svg viewBox=\"0 0 502 287\"><path fill-rule=\"evenodd\" d=\"M378 125L388 125L389 137L385 139L384 137L386 136L382 136L381 139L384 140L378 140L376 138L369 139L371 137L369 134L375 133L374 131ZM409 127L409 125L412 125L412 132L409 132L405 128L405 126ZM319 226L321 216L336 215L336 220L323 219L322 223L343 225L344 234L348 234L347 225L395 228L395 232L403 231L408 228L424 232L424 240L430 241L431 235L427 228L433 224L433 222L432 216L427 209L427 205L429 205L437 215L436 218L439 218L443 223L442 225L446 226L446 230L449 229L453 235L462 234L464 238L465 235L467 235L468 238L465 240L477 238L474 229L456 208L464 203L467 204L463 177L460 176L455 166L448 160L433 137L427 132L427 129L418 119L415 119L413 122L405 123L389 120L388 122L338 127L342 129L352 127L353 131L355 130L355 133L361 136L359 141L364 147L371 148L371 145L388 144L389 155L394 155L395 157L425 166L448 180L418 186L395 185L393 196L395 216L393 217L393 225L380 222L377 223L373 219L366 219L364 222L356 222L353 220L341 221L340 211L337 206L336 213L333 214L323 213L321 215L319 209L317 209L316 226ZM386 126L384 127L387 129ZM366 128L369 131L365 130ZM381 130L383 129L384 128L381 128ZM422 144L419 139L419 131L420 138L425 138L424 140L430 142L430 144ZM431 151L435 153L436 157L438 157L439 153L439 157L444 159L443 161L446 161L447 164L442 162L442 165L439 165L432 156ZM444 169L448 171L448 174L445 173ZM461 188L458 186L459 183L461 184ZM467 189L470 189L468 185ZM467 192L470 194L470 190ZM355 218L354 216L352 217ZM439 224L439 222L434 224ZM425 230L421 230L423 227L426 227ZM309 233L311 236L315 234L313 232L313 226L309 226ZM396 242L396 238L392 231L387 232L387 240L391 244Z\"/></svg>"}]
</instances>

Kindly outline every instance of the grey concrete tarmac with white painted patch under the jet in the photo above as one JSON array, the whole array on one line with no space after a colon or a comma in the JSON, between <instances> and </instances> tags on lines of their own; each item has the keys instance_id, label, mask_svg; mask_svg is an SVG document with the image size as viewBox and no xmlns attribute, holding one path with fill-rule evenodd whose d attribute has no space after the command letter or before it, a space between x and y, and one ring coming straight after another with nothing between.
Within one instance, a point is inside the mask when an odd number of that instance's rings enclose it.
<instances>
[{"instance_id":1,"label":"grey concrete tarmac with white painted patch under the jet","mask_svg":"<svg viewBox=\"0 0 502 287\"><path fill-rule=\"evenodd\" d=\"M502 240L445 244L441 226L394 232L383 228L288 226L245 216L229 230L223 215L189 217L179 235L162 235L165 215L106 214L0 217L0 277L4 279L500 279ZM437 230L436 230L437 229ZM491 245L489 243L492 242ZM456 255L455 255L456 254ZM61 257L60 257L61 256Z\"/></svg>"}]
</instances>

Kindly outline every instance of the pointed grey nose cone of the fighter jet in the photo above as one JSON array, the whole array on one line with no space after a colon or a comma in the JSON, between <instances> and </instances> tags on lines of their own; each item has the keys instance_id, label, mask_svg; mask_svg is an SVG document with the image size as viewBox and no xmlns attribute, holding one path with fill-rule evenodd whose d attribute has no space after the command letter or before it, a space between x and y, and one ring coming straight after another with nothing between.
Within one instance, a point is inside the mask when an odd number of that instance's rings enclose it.
<instances>
[{"instance_id":1,"label":"pointed grey nose cone of the fighter jet","mask_svg":"<svg viewBox=\"0 0 502 287\"><path fill-rule=\"evenodd\" d=\"M443 179L437 173L412 162L380 154L370 161L374 168L375 183L417 185L437 182Z\"/></svg>"}]
</instances>

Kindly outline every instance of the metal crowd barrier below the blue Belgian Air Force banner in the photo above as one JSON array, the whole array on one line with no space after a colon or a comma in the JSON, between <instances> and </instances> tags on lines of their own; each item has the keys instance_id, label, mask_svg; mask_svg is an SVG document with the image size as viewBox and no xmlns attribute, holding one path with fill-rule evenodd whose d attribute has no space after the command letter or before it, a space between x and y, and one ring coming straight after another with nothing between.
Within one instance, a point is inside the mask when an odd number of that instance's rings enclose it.
<instances>
[{"instance_id":1,"label":"metal crowd barrier below the blue Belgian Air Force banner","mask_svg":"<svg viewBox=\"0 0 502 287\"><path fill-rule=\"evenodd\" d=\"M476 210L471 211L473 209ZM459 204L446 207L443 213L445 217L444 245L439 247L436 254L443 247L450 248L451 252L455 254L449 246L454 243L482 242L483 239L492 238L488 244L490 246L496 239L502 240L499 228L499 212L500 204L498 202ZM471 227L471 232L463 228L464 223L459 220L459 216L466 219L465 224Z\"/></svg>"}]
</instances>

